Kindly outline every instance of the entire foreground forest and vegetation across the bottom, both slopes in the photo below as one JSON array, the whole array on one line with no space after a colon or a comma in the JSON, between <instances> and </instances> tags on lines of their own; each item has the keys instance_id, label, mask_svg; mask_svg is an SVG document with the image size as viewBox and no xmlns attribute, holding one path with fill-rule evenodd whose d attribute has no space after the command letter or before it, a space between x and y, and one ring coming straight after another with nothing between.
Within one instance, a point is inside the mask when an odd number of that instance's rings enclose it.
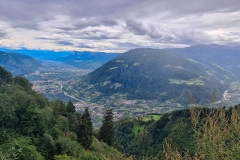
<instances>
[{"instance_id":1,"label":"entire foreground forest and vegetation across the bottom, both slopes","mask_svg":"<svg viewBox=\"0 0 240 160\"><path fill-rule=\"evenodd\" d=\"M88 108L48 101L0 67L0 159L240 159L240 105L213 106L115 123L108 109L94 131Z\"/></svg>"}]
</instances>

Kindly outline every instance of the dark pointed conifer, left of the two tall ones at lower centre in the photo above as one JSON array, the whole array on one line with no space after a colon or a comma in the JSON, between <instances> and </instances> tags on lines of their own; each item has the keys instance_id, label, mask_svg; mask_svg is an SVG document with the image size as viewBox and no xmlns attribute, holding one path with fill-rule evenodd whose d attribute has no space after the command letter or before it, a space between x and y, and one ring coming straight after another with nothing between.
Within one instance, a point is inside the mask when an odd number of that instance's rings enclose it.
<instances>
[{"instance_id":1,"label":"dark pointed conifer, left of the two tall ones at lower centre","mask_svg":"<svg viewBox=\"0 0 240 160\"><path fill-rule=\"evenodd\" d=\"M89 149L92 144L92 134L93 127L91 116L89 114L88 108L86 108L85 112L81 116L81 123L77 133L79 142L86 149Z\"/></svg>"}]
</instances>

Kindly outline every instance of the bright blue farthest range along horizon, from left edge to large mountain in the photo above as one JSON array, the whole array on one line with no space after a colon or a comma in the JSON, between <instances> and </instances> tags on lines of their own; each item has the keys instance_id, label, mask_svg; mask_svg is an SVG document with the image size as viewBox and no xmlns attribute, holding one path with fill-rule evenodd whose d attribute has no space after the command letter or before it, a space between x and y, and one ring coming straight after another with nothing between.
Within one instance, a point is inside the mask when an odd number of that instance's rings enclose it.
<instances>
[{"instance_id":1,"label":"bright blue farthest range along horizon, from left edge to large mountain","mask_svg":"<svg viewBox=\"0 0 240 160\"><path fill-rule=\"evenodd\" d=\"M105 52L78 52L78 51L52 51L52 50L31 50L26 48L9 49L0 48L6 53L21 53L29 55L41 61L59 61L80 69L94 70L110 61L118 53Z\"/></svg>"}]
</instances>

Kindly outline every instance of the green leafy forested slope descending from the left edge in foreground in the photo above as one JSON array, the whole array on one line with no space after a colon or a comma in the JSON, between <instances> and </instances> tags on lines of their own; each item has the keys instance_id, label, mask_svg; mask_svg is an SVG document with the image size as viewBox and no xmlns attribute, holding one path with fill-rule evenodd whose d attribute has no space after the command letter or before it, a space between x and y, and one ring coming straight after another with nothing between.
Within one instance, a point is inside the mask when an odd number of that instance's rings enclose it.
<instances>
[{"instance_id":1,"label":"green leafy forested slope descending from the left edge in foreground","mask_svg":"<svg viewBox=\"0 0 240 160\"><path fill-rule=\"evenodd\" d=\"M49 102L22 76L0 66L0 157L18 160L104 160L122 154L93 136L88 109ZM102 137L100 137L102 138ZM110 144L111 145L111 144ZM122 157L123 159L123 157Z\"/></svg>"}]
</instances>

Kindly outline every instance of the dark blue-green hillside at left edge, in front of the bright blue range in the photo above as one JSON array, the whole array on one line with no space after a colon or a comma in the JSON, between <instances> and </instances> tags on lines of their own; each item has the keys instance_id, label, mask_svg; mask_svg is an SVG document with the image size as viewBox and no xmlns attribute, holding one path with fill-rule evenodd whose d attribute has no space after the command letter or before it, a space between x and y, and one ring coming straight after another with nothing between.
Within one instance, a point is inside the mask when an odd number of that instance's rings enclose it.
<instances>
[{"instance_id":1,"label":"dark blue-green hillside at left edge, in front of the bright blue range","mask_svg":"<svg viewBox=\"0 0 240 160\"><path fill-rule=\"evenodd\" d=\"M32 73L42 66L36 59L18 53L0 51L0 65L11 71L13 75Z\"/></svg>"}]
</instances>

